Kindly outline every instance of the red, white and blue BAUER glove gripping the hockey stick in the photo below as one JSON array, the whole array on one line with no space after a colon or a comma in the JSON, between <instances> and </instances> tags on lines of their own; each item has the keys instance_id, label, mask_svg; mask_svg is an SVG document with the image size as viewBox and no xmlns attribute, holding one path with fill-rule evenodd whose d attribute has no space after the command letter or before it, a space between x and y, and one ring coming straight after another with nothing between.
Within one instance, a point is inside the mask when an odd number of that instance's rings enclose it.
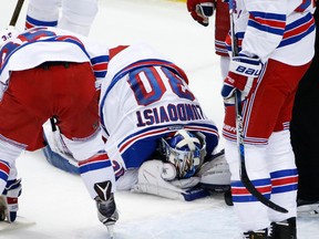
<instances>
[{"instance_id":1,"label":"red, white and blue BAUER glove gripping the hockey stick","mask_svg":"<svg viewBox=\"0 0 319 239\"><path fill-rule=\"evenodd\" d=\"M234 104L236 89L241 92L241 101L244 101L250 91L255 90L261 69L263 64L257 58L234 56L222 89L225 104Z\"/></svg>"}]
</instances>

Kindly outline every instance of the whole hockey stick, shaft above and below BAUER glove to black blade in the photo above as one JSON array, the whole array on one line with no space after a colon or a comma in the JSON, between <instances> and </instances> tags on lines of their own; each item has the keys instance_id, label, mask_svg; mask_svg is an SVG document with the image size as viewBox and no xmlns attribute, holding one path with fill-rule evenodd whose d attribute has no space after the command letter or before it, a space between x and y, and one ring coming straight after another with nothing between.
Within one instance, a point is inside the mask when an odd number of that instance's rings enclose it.
<instances>
[{"instance_id":1,"label":"whole hockey stick, shaft above and below BAUER glove to black blade","mask_svg":"<svg viewBox=\"0 0 319 239\"><path fill-rule=\"evenodd\" d=\"M235 21L234 21L234 0L229 0L229 17L230 17L230 34L231 34L231 50L233 56L238 55L238 45L237 39L235 35ZM240 180L246 189L256 197L261 204L271 208L272 210L287 214L288 210L286 208L280 207L279 205L272 202L267 199L263 194L260 194L247 174L246 162L245 162L245 145L244 145L244 129L243 129L243 106L241 106L241 92L239 90L235 91L235 107L236 107L236 131L237 131L237 146L238 153L240 157Z\"/></svg>"}]
</instances>

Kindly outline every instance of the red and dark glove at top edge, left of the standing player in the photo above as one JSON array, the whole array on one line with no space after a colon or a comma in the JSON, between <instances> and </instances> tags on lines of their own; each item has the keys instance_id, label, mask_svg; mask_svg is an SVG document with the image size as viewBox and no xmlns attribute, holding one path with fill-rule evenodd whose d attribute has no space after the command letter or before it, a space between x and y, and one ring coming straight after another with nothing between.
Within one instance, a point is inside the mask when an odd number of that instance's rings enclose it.
<instances>
[{"instance_id":1,"label":"red and dark glove at top edge, left of the standing player","mask_svg":"<svg viewBox=\"0 0 319 239\"><path fill-rule=\"evenodd\" d=\"M187 0L187 10L195 21L207 27L208 18L214 14L215 3L213 0Z\"/></svg>"}]
</instances>

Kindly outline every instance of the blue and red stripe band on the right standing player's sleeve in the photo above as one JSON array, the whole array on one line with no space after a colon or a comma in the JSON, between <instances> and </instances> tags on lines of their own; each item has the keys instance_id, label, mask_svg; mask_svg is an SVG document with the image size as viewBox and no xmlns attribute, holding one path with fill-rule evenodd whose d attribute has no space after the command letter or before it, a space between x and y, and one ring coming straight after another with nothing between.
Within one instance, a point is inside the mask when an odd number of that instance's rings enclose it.
<instances>
[{"instance_id":1,"label":"blue and red stripe band on the right standing player's sleeve","mask_svg":"<svg viewBox=\"0 0 319 239\"><path fill-rule=\"evenodd\" d=\"M249 12L248 25L259 31L282 35L286 27L286 15L268 12Z\"/></svg>"}]
</instances>

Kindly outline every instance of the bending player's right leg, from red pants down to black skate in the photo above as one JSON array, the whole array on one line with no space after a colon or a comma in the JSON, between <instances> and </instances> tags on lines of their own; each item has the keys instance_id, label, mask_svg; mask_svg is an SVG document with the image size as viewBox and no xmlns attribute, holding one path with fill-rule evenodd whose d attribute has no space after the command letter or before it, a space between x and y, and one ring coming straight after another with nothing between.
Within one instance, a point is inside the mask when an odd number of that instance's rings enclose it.
<instances>
[{"instance_id":1,"label":"bending player's right leg, from red pants down to black skate","mask_svg":"<svg viewBox=\"0 0 319 239\"><path fill-rule=\"evenodd\" d=\"M115 176L104 150L95 77L90 63L71 63L58 81L59 92L65 91L65 98L58 102L56 125L66 147L79 162L84 185L96 201L100 220L106 226L112 225L119 218L113 195Z\"/></svg>"}]
</instances>

